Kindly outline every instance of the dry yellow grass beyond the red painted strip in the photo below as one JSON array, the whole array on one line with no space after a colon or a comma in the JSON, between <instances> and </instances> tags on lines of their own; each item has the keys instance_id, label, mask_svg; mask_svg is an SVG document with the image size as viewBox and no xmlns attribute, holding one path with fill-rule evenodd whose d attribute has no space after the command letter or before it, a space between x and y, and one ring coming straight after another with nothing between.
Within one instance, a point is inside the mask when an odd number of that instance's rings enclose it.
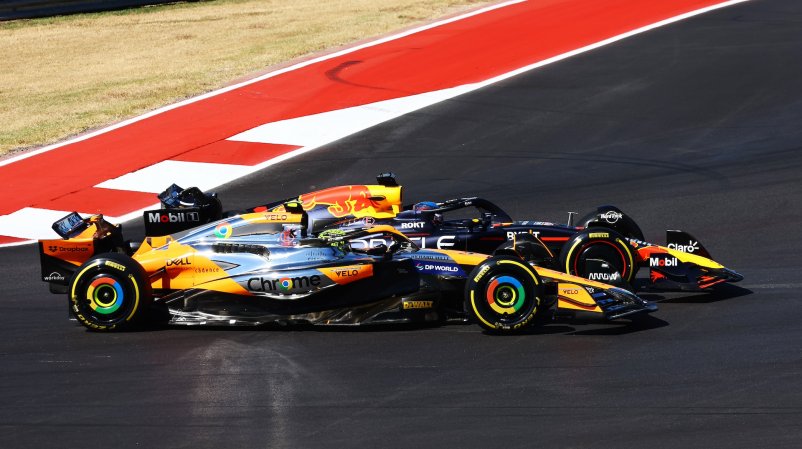
<instances>
[{"instance_id":1,"label":"dry yellow grass beyond the red painted strip","mask_svg":"<svg viewBox=\"0 0 802 449\"><path fill-rule=\"evenodd\" d=\"M0 155L482 0L217 0L0 23Z\"/></svg>"}]
</instances>

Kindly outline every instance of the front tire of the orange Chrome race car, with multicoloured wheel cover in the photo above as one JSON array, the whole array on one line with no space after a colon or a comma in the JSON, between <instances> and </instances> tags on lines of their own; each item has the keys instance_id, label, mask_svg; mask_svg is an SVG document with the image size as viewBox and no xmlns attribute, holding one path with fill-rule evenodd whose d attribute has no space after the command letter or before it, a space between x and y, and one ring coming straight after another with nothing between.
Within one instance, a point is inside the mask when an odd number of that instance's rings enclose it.
<instances>
[{"instance_id":1,"label":"front tire of the orange Chrome race car, with multicoloured wheel cover","mask_svg":"<svg viewBox=\"0 0 802 449\"><path fill-rule=\"evenodd\" d=\"M465 309L492 333L520 332L541 311L543 282L524 261L495 256L473 269L465 284Z\"/></svg>"}]
</instances>

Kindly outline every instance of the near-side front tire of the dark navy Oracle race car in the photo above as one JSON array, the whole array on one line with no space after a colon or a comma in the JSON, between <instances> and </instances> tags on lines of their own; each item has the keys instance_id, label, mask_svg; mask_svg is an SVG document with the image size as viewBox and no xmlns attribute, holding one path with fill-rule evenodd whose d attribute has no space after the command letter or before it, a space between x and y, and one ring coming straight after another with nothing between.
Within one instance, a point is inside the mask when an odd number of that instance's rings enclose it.
<instances>
[{"instance_id":1,"label":"near-side front tire of the dark navy Oracle race car","mask_svg":"<svg viewBox=\"0 0 802 449\"><path fill-rule=\"evenodd\" d=\"M560 269L568 274L591 279L588 259L599 259L610 264L628 284L638 271L632 248L621 234L608 228L593 227L574 234L560 252ZM605 282L609 279L591 279Z\"/></svg>"}]
</instances>

